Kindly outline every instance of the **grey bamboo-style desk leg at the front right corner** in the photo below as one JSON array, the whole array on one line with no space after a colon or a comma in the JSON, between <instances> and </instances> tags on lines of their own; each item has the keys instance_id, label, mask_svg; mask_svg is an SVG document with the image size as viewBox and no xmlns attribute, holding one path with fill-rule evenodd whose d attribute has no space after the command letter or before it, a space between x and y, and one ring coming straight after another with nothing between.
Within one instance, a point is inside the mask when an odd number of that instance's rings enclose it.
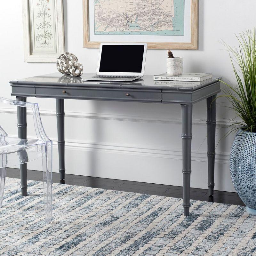
<instances>
[{"instance_id":1,"label":"grey bamboo-style desk leg at the front right corner","mask_svg":"<svg viewBox=\"0 0 256 256\"><path fill-rule=\"evenodd\" d=\"M190 173L192 140L192 105L181 105L182 111L182 176L184 215L189 215L190 207Z\"/></svg>"}]
</instances>

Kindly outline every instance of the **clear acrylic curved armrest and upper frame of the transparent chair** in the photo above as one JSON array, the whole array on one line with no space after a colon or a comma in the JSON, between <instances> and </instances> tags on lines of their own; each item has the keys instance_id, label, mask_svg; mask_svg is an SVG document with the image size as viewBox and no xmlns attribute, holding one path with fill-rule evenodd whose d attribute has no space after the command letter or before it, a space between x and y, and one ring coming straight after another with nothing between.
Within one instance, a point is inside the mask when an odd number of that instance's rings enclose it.
<instances>
[{"instance_id":1,"label":"clear acrylic curved armrest and upper frame of the transparent chair","mask_svg":"<svg viewBox=\"0 0 256 256\"><path fill-rule=\"evenodd\" d=\"M32 109L37 139L45 141L45 142L51 141L44 131L44 127L43 127L42 120L41 120L40 113L39 113L38 103L24 102L24 101L18 101L18 100L9 100L9 99L2 98L2 97L0 97L0 103L13 105L13 106L16 106L17 108L20 107L20 108ZM7 136L7 132L5 132L1 126L0 126L0 135Z\"/></svg>"}]
</instances>

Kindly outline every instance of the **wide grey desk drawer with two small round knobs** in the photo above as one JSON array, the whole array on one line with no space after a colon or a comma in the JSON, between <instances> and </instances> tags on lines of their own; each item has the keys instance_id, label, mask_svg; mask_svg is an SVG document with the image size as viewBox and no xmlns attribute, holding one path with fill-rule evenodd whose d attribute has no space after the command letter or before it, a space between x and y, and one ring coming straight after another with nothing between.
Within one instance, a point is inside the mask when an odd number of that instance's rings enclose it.
<instances>
[{"instance_id":1,"label":"wide grey desk drawer with two small round knobs","mask_svg":"<svg viewBox=\"0 0 256 256\"><path fill-rule=\"evenodd\" d=\"M130 90L116 88L81 88L71 86L57 87L36 85L36 97L161 103L162 92L161 90Z\"/></svg>"}]
</instances>

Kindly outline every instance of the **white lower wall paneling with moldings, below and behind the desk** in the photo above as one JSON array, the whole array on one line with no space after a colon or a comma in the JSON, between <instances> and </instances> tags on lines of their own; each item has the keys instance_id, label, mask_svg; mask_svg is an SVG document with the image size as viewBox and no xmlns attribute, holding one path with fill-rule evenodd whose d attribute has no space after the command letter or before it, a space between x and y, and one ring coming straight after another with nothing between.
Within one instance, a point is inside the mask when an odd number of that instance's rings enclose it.
<instances>
[{"instance_id":1,"label":"white lower wall paneling with moldings, below and behind the desk","mask_svg":"<svg viewBox=\"0 0 256 256\"><path fill-rule=\"evenodd\" d=\"M0 113L15 120L15 108L0 108ZM55 111L41 110L40 114L53 140L53 172L58 172ZM35 138L31 122L32 112L28 110L28 137ZM218 128L225 130L229 124L228 120L217 120L216 190L235 191L229 151L218 151L225 148L219 147L225 133L220 134ZM182 186L180 126L180 118L65 111L66 173ZM11 132L16 135L13 125ZM194 119L191 187L207 188L206 140L205 120ZM40 170L41 163L31 162L28 168Z\"/></svg>"}]
</instances>

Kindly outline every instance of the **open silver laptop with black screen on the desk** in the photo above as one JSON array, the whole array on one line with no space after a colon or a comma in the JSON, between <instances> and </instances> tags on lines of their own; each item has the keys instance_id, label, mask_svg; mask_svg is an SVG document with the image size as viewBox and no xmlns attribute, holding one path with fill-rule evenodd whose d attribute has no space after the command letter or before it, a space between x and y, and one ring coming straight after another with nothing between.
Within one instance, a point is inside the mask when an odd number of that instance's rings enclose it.
<instances>
[{"instance_id":1,"label":"open silver laptop with black screen on the desk","mask_svg":"<svg viewBox=\"0 0 256 256\"><path fill-rule=\"evenodd\" d=\"M101 43L97 72L83 80L133 81L144 75L146 43Z\"/></svg>"}]
</instances>

